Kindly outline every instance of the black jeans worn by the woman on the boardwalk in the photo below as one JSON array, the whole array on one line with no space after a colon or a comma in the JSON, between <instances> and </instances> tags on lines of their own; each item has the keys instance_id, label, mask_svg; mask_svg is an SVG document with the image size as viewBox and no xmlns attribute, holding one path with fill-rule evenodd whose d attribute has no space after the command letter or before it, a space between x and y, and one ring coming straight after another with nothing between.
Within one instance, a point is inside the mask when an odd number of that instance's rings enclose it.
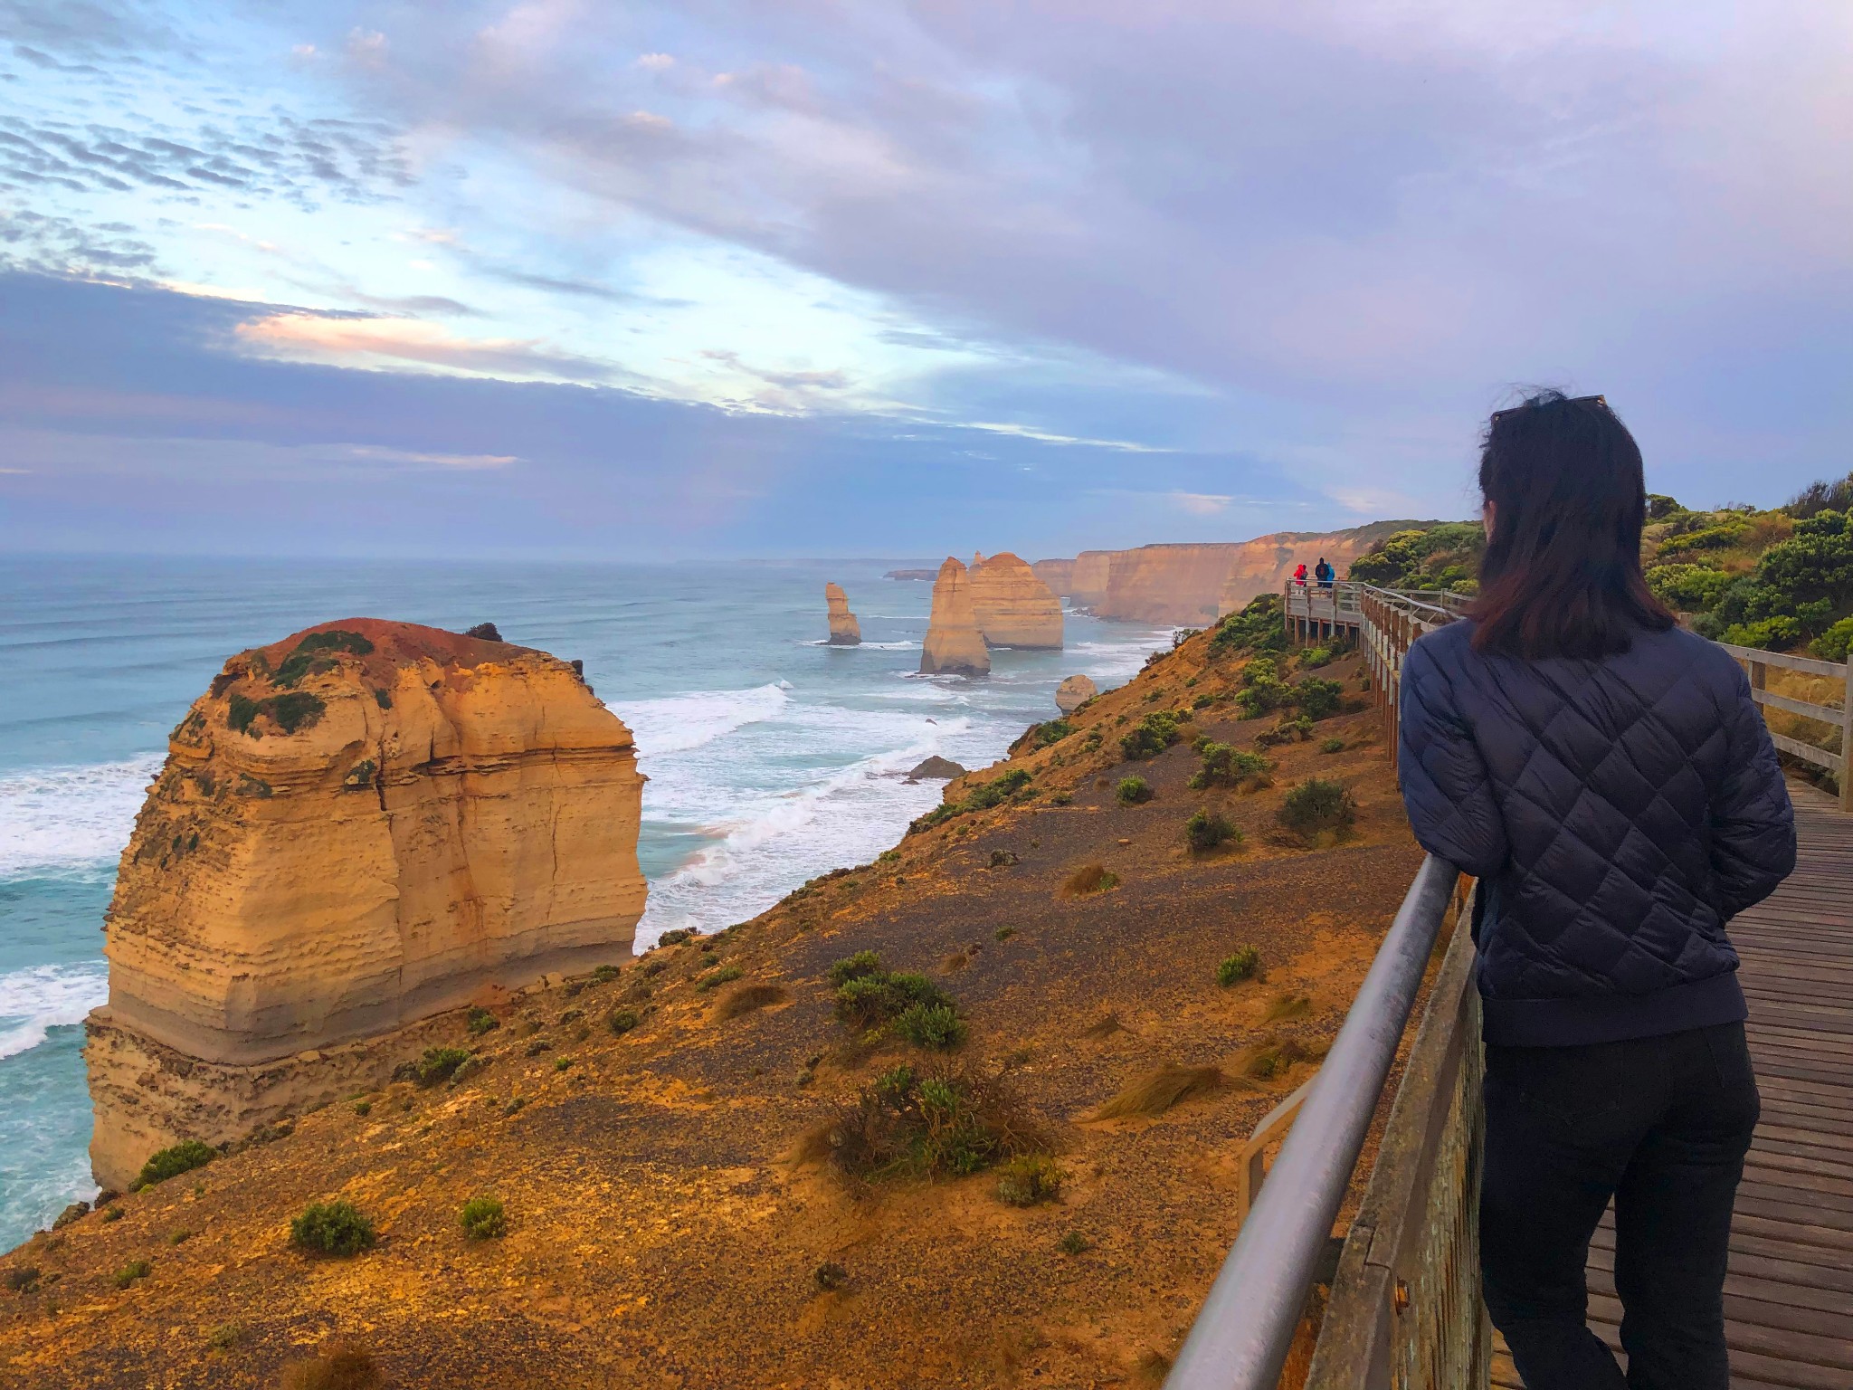
<instances>
[{"instance_id":1,"label":"black jeans worn by the woman on the boardwalk","mask_svg":"<svg viewBox=\"0 0 1853 1390\"><path fill-rule=\"evenodd\" d=\"M1729 1390L1725 1257L1757 1114L1742 1023L1486 1049L1481 1271L1527 1390ZM1586 1323L1610 1197L1625 1377Z\"/></svg>"}]
</instances>

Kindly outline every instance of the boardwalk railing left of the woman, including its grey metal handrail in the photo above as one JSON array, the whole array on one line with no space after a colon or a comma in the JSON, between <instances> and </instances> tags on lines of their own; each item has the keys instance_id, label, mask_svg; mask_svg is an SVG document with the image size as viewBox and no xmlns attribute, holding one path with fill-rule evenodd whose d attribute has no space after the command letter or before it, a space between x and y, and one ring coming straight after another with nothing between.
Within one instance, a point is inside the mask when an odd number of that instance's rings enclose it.
<instances>
[{"instance_id":1,"label":"boardwalk railing left of the woman, including its grey metal handrail","mask_svg":"<svg viewBox=\"0 0 1853 1390\"><path fill-rule=\"evenodd\" d=\"M1468 600L1351 582L1325 591L1290 584L1284 600L1288 630L1303 639L1340 626L1358 634L1393 749L1403 654L1423 632L1455 621ZM1319 1073L1243 1145L1236 1244L1166 1379L1169 1390L1280 1384L1456 884L1453 866L1432 854L1423 860ZM1345 1234L1306 1386L1471 1390L1488 1383L1473 1201L1482 1153L1479 1038L1471 934L1456 930ZM1286 1125L1264 1184L1264 1151Z\"/></svg>"}]
</instances>

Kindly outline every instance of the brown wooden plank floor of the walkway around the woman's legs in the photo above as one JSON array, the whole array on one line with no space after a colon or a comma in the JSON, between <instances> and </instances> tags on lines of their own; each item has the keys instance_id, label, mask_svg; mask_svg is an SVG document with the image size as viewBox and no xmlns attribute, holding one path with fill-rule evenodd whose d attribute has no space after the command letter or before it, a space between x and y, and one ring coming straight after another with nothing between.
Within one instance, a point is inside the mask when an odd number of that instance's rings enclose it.
<instances>
[{"instance_id":1,"label":"brown wooden plank floor of the walkway around the woman's legs","mask_svg":"<svg viewBox=\"0 0 1853 1390\"><path fill-rule=\"evenodd\" d=\"M1733 1390L1853 1390L1853 815L1792 782L1799 856L1731 923L1762 1123L1731 1223ZM1620 1351L1612 1212L1590 1244L1590 1325ZM1494 1384L1523 1390L1505 1342Z\"/></svg>"}]
</instances>

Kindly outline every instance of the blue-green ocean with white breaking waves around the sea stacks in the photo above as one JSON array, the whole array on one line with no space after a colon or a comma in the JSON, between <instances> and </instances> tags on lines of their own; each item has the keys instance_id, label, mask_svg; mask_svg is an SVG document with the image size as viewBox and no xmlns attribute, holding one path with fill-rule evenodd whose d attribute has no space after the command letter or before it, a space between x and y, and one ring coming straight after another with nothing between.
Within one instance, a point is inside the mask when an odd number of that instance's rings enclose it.
<instances>
[{"instance_id":1,"label":"blue-green ocean with white breaking waves around the sea stacks","mask_svg":"<svg viewBox=\"0 0 1853 1390\"><path fill-rule=\"evenodd\" d=\"M939 801L906 771L967 767L1054 710L1062 676L1128 680L1169 628L1067 617L1062 652L988 680L919 676L921 560L517 565L0 558L0 1249L95 1192L83 1080L102 919L167 732L232 652L311 623L393 617L582 658L649 775L637 929L743 921L863 864ZM862 647L826 636L839 582Z\"/></svg>"}]
</instances>

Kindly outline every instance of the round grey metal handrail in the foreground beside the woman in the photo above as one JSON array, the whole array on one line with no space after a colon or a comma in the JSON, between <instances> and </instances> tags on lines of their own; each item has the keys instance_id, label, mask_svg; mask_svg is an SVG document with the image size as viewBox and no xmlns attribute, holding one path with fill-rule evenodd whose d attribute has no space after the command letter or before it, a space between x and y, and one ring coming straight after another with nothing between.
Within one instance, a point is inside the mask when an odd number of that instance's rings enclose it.
<instances>
[{"instance_id":1,"label":"round grey metal handrail in the foreground beside the woman","mask_svg":"<svg viewBox=\"0 0 1853 1390\"><path fill-rule=\"evenodd\" d=\"M1167 1390L1273 1390L1460 871L1423 860L1179 1351Z\"/></svg>"}]
</instances>

